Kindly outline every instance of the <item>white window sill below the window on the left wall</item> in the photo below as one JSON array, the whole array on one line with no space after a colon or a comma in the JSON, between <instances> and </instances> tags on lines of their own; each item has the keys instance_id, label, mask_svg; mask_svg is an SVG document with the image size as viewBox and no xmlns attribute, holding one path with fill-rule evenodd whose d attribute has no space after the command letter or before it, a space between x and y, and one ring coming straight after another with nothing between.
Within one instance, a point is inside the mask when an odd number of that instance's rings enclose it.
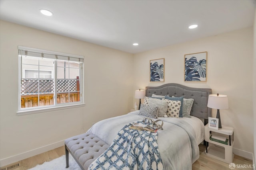
<instances>
[{"instance_id":1,"label":"white window sill below the window on the left wall","mask_svg":"<svg viewBox=\"0 0 256 170\"><path fill-rule=\"evenodd\" d=\"M28 115L28 114L33 114L33 113L42 113L42 112L46 112L46 111L62 110L62 109L69 109L69 108L83 107L83 106L85 106L85 104L46 107L46 108L32 109L32 110L21 110L21 111L17 111L17 115Z\"/></svg>"}]
</instances>

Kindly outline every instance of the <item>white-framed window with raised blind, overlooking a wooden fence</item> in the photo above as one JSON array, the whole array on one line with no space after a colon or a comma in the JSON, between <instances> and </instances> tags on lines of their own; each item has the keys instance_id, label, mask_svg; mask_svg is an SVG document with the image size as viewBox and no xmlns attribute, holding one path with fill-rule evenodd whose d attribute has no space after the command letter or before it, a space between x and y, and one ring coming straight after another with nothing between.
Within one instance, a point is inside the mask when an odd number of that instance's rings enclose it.
<instances>
[{"instance_id":1,"label":"white-framed window with raised blind, overlooking a wooden fence","mask_svg":"<svg viewBox=\"0 0 256 170\"><path fill-rule=\"evenodd\" d=\"M18 49L19 111L83 104L83 56Z\"/></svg>"}]
</instances>

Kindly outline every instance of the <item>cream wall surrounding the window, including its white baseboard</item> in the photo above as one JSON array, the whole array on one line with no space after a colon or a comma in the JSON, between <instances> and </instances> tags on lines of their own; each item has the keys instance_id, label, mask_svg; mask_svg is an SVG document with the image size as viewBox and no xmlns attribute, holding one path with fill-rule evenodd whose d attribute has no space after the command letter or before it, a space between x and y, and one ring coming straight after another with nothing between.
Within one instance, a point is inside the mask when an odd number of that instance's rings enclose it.
<instances>
[{"instance_id":1,"label":"cream wall surrounding the window, including its white baseboard","mask_svg":"<svg viewBox=\"0 0 256 170\"><path fill-rule=\"evenodd\" d=\"M18 45L85 56L85 106L17 116ZM0 21L0 166L63 146L133 103L133 55Z\"/></svg>"}]
</instances>

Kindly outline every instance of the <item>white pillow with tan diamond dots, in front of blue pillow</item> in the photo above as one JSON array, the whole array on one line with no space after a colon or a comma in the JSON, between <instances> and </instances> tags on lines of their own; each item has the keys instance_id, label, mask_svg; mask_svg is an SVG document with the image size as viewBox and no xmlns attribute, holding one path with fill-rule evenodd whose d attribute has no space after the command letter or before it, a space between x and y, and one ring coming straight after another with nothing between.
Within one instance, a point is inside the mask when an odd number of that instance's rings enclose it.
<instances>
[{"instance_id":1,"label":"white pillow with tan diamond dots, in front of blue pillow","mask_svg":"<svg viewBox=\"0 0 256 170\"><path fill-rule=\"evenodd\" d=\"M164 100L166 100L168 103L168 109L166 111L166 115L168 117L178 118L180 114L181 102L178 100L167 100L167 99L164 99Z\"/></svg>"}]
</instances>

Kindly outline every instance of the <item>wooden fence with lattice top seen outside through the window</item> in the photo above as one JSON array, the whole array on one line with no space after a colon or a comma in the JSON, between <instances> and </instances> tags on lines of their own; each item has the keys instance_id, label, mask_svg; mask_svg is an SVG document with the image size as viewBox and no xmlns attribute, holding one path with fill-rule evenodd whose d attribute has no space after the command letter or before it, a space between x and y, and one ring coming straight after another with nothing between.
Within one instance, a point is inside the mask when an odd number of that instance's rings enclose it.
<instances>
[{"instance_id":1,"label":"wooden fence with lattice top seen outside through the window","mask_svg":"<svg viewBox=\"0 0 256 170\"><path fill-rule=\"evenodd\" d=\"M40 93L39 101L38 86ZM69 100L68 93L70 91ZM76 92L75 92L76 91ZM54 80L22 79L21 80L21 108L49 106L54 104ZM59 93L64 92L64 93ZM65 93L66 92L66 93ZM72 80L57 80L57 104L80 101L79 76Z\"/></svg>"}]
</instances>

